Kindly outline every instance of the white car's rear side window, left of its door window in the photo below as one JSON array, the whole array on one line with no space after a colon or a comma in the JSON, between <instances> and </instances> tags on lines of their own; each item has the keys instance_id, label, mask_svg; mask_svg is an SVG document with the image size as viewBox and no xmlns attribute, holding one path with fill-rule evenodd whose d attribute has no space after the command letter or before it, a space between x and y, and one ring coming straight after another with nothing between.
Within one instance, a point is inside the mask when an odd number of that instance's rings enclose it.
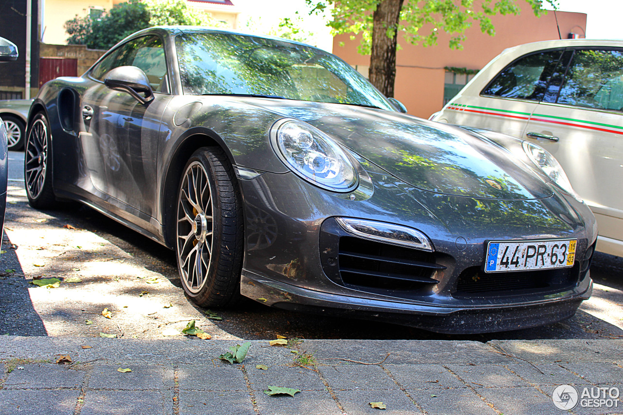
<instances>
[{"instance_id":1,"label":"white car's rear side window, left of its door window","mask_svg":"<svg viewBox=\"0 0 623 415\"><path fill-rule=\"evenodd\" d=\"M482 95L540 101L561 50L527 55L508 65L482 90Z\"/></svg>"}]
</instances>

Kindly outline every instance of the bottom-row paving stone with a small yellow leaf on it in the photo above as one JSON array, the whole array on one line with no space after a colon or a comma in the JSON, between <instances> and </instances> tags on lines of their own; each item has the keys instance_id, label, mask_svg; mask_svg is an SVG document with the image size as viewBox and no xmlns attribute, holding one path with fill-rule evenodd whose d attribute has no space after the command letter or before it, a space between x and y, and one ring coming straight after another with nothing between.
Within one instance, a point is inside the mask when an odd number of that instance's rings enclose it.
<instances>
[{"instance_id":1,"label":"bottom-row paving stone with a small yellow leaf on it","mask_svg":"<svg viewBox=\"0 0 623 415\"><path fill-rule=\"evenodd\" d=\"M383 415L421 415L411 399L400 389L387 391L335 391L338 400L348 415L377 414L379 409L372 408L371 402L383 402L387 409Z\"/></svg>"}]
</instances>

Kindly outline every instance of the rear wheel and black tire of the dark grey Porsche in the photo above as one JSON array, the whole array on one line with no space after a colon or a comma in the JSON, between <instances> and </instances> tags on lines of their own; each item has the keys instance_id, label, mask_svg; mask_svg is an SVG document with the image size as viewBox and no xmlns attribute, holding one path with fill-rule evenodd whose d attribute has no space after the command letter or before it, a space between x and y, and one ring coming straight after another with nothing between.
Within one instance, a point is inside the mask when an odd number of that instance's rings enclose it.
<instances>
[{"instance_id":1,"label":"rear wheel and black tire of the dark grey Porsche","mask_svg":"<svg viewBox=\"0 0 623 415\"><path fill-rule=\"evenodd\" d=\"M28 130L24 154L26 195L35 209L52 209L57 204L52 188L51 139L50 123L43 113L38 113Z\"/></svg>"}]
</instances>

